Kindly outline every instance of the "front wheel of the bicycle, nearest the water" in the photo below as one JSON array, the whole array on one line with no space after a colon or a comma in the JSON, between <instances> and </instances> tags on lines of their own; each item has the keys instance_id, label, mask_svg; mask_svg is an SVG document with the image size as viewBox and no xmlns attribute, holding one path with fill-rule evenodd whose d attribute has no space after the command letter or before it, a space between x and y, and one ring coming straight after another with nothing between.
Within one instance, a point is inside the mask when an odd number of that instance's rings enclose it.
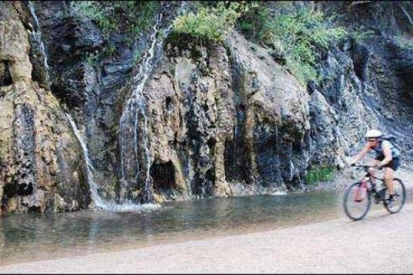
<instances>
[{"instance_id":1,"label":"front wheel of the bicycle, nearest the water","mask_svg":"<svg viewBox=\"0 0 413 275\"><path fill-rule=\"evenodd\" d=\"M344 193L344 211L354 221L363 219L366 216L371 203L370 194L366 187L362 187L361 181L348 186Z\"/></svg>"}]
</instances>

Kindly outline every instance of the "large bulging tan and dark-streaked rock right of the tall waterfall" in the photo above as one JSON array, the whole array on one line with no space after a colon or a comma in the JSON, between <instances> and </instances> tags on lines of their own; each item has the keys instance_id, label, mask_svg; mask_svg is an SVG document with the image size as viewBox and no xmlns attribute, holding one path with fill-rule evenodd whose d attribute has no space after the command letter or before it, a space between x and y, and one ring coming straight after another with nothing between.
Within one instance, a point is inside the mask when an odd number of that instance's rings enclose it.
<instances>
[{"instance_id":1,"label":"large bulging tan and dark-streaked rock right of the tall waterfall","mask_svg":"<svg viewBox=\"0 0 413 275\"><path fill-rule=\"evenodd\" d=\"M309 96L266 50L257 47L257 54L234 36L232 52L218 45L165 46L145 88L158 192L222 197L241 194L240 184L276 188L300 178L303 150L295 147L310 130ZM165 170L175 175L169 184Z\"/></svg>"}]
</instances>

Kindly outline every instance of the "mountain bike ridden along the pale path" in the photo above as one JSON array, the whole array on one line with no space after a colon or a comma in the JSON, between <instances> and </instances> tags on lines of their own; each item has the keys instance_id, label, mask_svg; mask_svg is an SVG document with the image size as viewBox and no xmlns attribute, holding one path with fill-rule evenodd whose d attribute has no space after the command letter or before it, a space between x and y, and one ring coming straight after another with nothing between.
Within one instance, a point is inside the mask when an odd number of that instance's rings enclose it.
<instances>
[{"instance_id":1,"label":"mountain bike ridden along the pale path","mask_svg":"<svg viewBox=\"0 0 413 275\"><path fill-rule=\"evenodd\" d=\"M372 166L369 165L355 165L355 168L362 168L366 175L360 181L350 184L346 188L343 198L344 211L347 216L354 221L363 219L366 216L372 200L375 203L383 203L390 214L399 212L405 203L406 190L401 179L393 179L393 199L387 198L388 195L387 188L385 187L385 182L383 178L375 177L368 172L368 169ZM383 186L383 188L378 187Z\"/></svg>"}]
</instances>

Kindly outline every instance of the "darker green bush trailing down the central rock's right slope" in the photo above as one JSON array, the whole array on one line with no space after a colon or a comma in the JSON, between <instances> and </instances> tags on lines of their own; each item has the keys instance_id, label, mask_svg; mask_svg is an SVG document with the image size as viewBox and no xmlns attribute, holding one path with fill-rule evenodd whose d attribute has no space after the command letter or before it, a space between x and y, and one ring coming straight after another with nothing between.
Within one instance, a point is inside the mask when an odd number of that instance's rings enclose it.
<instances>
[{"instance_id":1,"label":"darker green bush trailing down the central rock's right slope","mask_svg":"<svg viewBox=\"0 0 413 275\"><path fill-rule=\"evenodd\" d=\"M321 11L309 8L273 15L265 5L257 5L240 19L239 28L251 40L284 56L290 72L303 84L319 80L316 68L319 53L348 36L343 28L332 27Z\"/></svg>"}]
</instances>

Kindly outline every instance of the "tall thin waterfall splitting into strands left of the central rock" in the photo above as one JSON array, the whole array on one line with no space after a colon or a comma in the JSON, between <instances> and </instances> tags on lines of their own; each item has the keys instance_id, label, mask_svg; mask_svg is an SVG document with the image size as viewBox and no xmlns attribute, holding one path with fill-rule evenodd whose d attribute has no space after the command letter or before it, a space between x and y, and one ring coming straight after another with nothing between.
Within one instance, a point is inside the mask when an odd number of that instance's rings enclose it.
<instances>
[{"instance_id":1,"label":"tall thin waterfall splitting into strands left of the central rock","mask_svg":"<svg viewBox=\"0 0 413 275\"><path fill-rule=\"evenodd\" d=\"M148 138L148 119L147 109L145 104L145 98L142 93L143 87L147 82L152 69L156 63L156 54L161 50L162 43L167 34L171 30L172 25L160 33L160 23L162 20L162 12L160 13L156 24L153 26L153 32L149 38L149 49L142 56L140 66L138 67L138 73L134 76L134 89L131 93L129 100L127 100L125 107L120 117L120 166L122 179L120 181L120 201L127 201L129 198L125 194L129 187L129 176L131 180L137 182L140 177L140 169L145 171L145 188L143 190L144 201L150 200L150 181L151 176L149 174L149 168L152 163L152 155L150 150L149 138ZM140 129L140 140L138 138L138 124L142 121ZM143 148L144 161L140 163L138 155L138 147ZM132 155L129 155L132 153Z\"/></svg>"}]
</instances>

